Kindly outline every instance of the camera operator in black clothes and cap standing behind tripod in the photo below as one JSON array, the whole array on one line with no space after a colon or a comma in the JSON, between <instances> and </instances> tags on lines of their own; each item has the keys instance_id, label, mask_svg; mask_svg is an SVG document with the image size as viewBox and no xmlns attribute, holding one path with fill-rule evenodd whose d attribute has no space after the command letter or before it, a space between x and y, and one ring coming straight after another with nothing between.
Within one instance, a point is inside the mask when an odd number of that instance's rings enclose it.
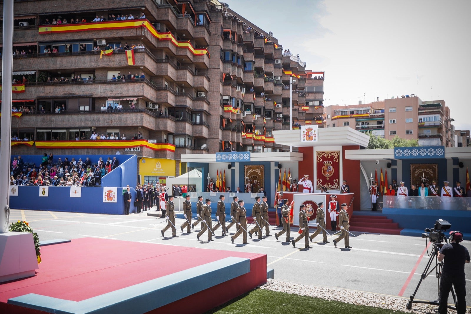
<instances>
[{"instance_id":1,"label":"camera operator in black clothes and cap standing behind tripod","mask_svg":"<svg viewBox=\"0 0 471 314\"><path fill-rule=\"evenodd\" d=\"M450 231L449 242L437 253L439 262L444 260L439 291L439 313L446 314L448 294L451 287L455 288L456 313L466 312L466 281L464 276L464 263L470 262L468 249L459 244L463 241L463 234L459 231Z\"/></svg>"}]
</instances>

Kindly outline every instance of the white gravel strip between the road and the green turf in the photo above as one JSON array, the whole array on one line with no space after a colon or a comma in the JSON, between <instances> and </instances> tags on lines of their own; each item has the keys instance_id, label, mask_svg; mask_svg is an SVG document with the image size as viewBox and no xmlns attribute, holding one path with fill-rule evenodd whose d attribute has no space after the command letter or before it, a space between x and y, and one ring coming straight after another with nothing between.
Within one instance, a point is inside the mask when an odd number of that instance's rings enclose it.
<instances>
[{"instance_id":1,"label":"white gravel strip between the road and the green turf","mask_svg":"<svg viewBox=\"0 0 471 314\"><path fill-rule=\"evenodd\" d=\"M268 280L268 286L260 286L260 289L268 289L278 292L298 294L300 296L318 297L325 300L335 300L356 305L376 306L394 311L403 311L416 314L436 314L438 306L430 304L412 304L412 309L406 309L407 299L390 297L380 294L334 289L326 287L308 286L287 281ZM456 313L449 310L449 313ZM471 313L468 310L466 313Z\"/></svg>"}]
</instances>

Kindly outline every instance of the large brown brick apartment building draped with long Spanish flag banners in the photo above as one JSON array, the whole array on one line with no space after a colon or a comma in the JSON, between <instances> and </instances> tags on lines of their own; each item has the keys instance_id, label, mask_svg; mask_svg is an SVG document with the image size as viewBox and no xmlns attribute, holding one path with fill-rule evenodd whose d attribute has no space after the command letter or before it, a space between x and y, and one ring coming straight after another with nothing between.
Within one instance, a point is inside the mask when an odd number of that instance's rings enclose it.
<instances>
[{"instance_id":1,"label":"large brown brick apartment building draped with long Spanish flag banners","mask_svg":"<svg viewBox=\"0 0 471 314\"><path fill-rule=\"evenodd\" d=\"M118 15L134 19L114 21ZM90 24L97 16L106 22ZM68 23L48 24L58 19ZM126 49L103 56L94 50L125 43L145 47L133 50L134 64ZM15 1L16 50L26 54L14 56L13 78L27 83L13 94L13 106L30 112L12 117L12 136L61 142L96 132L130 140L141 132L157 145L133 153L175 160L176 175L181 154L289 149L275 144L272 132L289 128L290 77L296 80L293 121L315 124L323 112L324 73L306 71L272 33L216 0ZM124 79L114 79L119 74ZM57 107L65 110L56 113ZM15 145L12 154L124 154L125 146L132 143Z\"/></svg>"}]
</instances>

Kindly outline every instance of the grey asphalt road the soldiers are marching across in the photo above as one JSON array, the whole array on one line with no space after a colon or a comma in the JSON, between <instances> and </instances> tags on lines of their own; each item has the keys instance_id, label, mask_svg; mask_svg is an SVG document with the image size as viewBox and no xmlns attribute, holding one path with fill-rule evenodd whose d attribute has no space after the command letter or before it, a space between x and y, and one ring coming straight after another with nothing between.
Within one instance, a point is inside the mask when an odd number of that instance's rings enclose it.
<instances>
[{"instance_id":1,"label":"grey asphalt road the soldiers are marching across","mask_svg":"<svg viewBox=\"0 0 471 314\"><path fill-rule=\"evenodd\" d=\"M255 235L254 239L248 237L248 245L242 245L242 236L232 244L229 237L221 237L219 228L215 231L215 241L208 243L198 241L196 232L181 234L179 225L183 220L180 218L176 220L179 238L162 238L160 230L166 225L164 219L156 219L146 213L148 212L124 216L11 210L10 221L28 221L38 232L40 240L96 237L256 252L267 255L267 266L275 270L275 279L278 280L406 298L414 292L429 260L426 248L428 247L430 253L432 247L425 239L418 237L354 232L357 237L350 236L351 249L343 248L343 240L335 248L332 241L335 237L332 236L328 237L330 243L322 243L322 234L314 239L317 242L310 243L313 247L311 249L304 248L304 240L300 240L296 243L297 248L293 248L291 243L283 242L284 235L278 241L275 239L273 235L280 230L275 228L270 230L272 236L263 240L256 239ZM198 229L199 227L195 228ZM291 236L297 237L297 231L298 228L292 228ZM229 230L230 234L234 232L235 226ZM171 230L165 235L171 237ZM206 239L206 235L201 237L201 240ZM471 251L471 241L465 240L462 244ZM471 264L465 265L465 272L469 291ZM435 271L422 281L415 298L438 298ZM471 293L467 294L466 301L471 305Z\"/></svg>"}]
</instances>

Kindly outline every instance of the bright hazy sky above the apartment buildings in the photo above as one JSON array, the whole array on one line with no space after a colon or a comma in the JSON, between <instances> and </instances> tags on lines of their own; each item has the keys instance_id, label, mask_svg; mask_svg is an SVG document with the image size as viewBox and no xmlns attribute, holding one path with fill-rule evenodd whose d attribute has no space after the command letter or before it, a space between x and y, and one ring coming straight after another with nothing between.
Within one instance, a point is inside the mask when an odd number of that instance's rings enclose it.
<instances>
[{"instance_id":1,"label":"bright hazy sky above the apartment buildings","mask_svg":"<svg viewBox=\"0 0 471 314\"><path fill-rule=\"evenodd\" d=\"M325 71L325 106L415 94L445 100L455 129L471 129L471 1L224 2Z\"/></svg>"}]
</instances>

